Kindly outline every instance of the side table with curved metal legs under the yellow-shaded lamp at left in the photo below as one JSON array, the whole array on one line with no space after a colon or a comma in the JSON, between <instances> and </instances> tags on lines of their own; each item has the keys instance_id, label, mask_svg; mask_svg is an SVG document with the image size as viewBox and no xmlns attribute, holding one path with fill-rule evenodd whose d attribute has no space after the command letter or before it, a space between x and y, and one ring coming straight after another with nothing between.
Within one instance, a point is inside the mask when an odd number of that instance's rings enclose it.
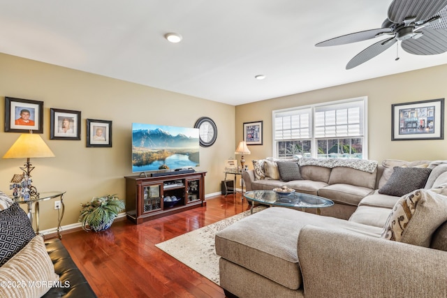
<instances>
[{"instance_id":1,"label":"side table with curved metal legs under the yellow-shaded lamp at left","mask_svg":"<svg viewBox=\"0 0 447 298\"><path fill-rule=\"evenodd\" d=\"M48 191L39 193L38 198L30 198L29 200L23 200L22 198L13 198L15 202L19 204L27 204L28 207L28 218L29 221L31 221L31 225L33 223L33 203L34 203L34 212L36 213L36 234L39 233L39 202L46 201L46 200L52 200L55 198L61 199L61 211L57 217L57 236L59 239L62 239L61 235L61 221L62 218L64 218L64 211L65 211L65 204L64 204L64 193L65 191Z\"/></svg>"}]
</instances>

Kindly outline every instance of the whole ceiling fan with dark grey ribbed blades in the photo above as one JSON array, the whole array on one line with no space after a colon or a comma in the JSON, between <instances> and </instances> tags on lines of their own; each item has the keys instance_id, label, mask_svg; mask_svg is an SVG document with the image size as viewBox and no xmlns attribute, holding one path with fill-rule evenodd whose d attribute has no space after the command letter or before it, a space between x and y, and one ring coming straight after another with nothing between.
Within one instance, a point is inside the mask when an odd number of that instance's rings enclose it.
<instances>
[{"instance_id":1,"label":"whole ceiling fan with dark grey ribbed blades","mask_svg":"<svg viewBox=\"0 0 447 298\"><path fill-rule=\"evenodd\" d=\"M410 54L432 55L447 52L447 0L393 0L388 8L388 18L381 28L331 38L316 46L344 45L380 36L387 38L358 53L346 64L346 69L376 57L397 41Z\"/></svg>"}]
</instances>

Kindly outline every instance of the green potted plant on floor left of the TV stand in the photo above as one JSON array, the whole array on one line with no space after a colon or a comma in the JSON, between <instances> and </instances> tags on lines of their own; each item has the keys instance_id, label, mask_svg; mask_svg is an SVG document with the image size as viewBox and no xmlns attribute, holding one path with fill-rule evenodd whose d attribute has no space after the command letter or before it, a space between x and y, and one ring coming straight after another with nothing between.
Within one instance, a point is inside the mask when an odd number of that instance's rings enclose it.
<instances>
[{"instance_id":1,"label":"green potted plant on floor left of the TV stand","mask_svg":"<svg viewBox=\"0 0 447 298\"><path fill-rule=\"evenodd\" d=\"M81 204L79 222L85 231L99 232L107 230L112 225L119 212L124 210L124 200L115 195L103 195L93 198L90 202Z\"/></svg>"}]
</instances>

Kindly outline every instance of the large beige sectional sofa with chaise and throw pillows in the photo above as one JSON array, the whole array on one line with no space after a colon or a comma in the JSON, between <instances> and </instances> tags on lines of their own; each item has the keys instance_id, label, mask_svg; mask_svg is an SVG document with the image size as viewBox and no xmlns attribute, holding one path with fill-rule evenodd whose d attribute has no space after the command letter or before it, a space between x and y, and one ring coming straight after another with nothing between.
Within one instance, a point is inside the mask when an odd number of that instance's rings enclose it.
<instances>
[{"instance_id":1,"label":"large beige sectional sofa with chaise and throw pillows","mask_svg":"<svg viewBox=\"0 0 447 298\"><path fill-rule=\"evenodd\" d=\"M228 296L447 297L446 161L256 163L247 191L286 184L335 205L271 207L217 233Z\"/></svg>"}]
</instances>

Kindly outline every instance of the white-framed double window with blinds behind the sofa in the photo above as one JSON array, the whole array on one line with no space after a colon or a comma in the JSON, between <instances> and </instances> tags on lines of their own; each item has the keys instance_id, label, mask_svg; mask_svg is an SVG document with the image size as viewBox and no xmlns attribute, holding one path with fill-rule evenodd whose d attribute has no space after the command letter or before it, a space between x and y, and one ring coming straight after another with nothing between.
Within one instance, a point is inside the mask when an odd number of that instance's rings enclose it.
<instances>
[{"instance_id":1,"label":"white-framed double window with blinds behind the sofa","mask_svg":"<svg viewBox=\"0 0 447 298\"><path fill-rule=\"evenodd\" d=\"M367 98L273 111L277 158L367 158Z\"/></svg>"}]
</instances>

